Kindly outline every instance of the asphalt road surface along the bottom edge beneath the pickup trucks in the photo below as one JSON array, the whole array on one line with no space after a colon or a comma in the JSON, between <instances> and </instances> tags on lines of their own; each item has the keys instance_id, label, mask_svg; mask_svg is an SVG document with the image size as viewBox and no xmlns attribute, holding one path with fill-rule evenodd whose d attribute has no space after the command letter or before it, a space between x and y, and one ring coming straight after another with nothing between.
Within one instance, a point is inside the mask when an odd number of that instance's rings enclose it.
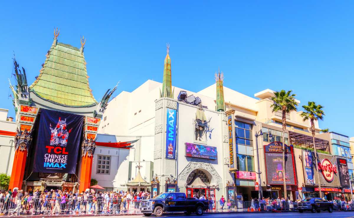
<instances>
[{"instance_id":1,"label":"asphalt road surface along the bottom edge beneath the pickup trucks","mask_svg":"<svg viewBox=\"0 0 354 218\"><path fill-rule=\"evenodd\" d=\"M141 218L145 217L142 215L132 215L132 216L109 216L109 218ZM155 216L150 216L155 217ZM172 217L172 218L197 218L199 216L195 216L194 214L190 216L183 216L183 215L169 215L162 217ZM320 212L320 213L311 213L311 212L304 212L304 213L223 213L223 214L204 214L200 218L211 218L211 217L237 217L237 218L250 218L250 217L261 217L261 218L281 218L281 217L316 217L316 218L354 218L354 212Z\"/></svg>"}]
</instances>

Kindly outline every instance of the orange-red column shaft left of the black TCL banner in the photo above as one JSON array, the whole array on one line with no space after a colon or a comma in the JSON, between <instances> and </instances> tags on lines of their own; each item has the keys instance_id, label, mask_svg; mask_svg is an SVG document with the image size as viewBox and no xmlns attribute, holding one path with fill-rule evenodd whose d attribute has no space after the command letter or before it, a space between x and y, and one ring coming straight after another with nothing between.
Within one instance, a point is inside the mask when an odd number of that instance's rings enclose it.
<instances>
[{"instance_id":1,"label":"orange-red column shaft left of the black TCL banner","mask_svg":"<svg viewBox=\"0 0 354 218\"><path fill-rule=\"evenodd\" d=\"M24 168L27 160L27 150L21 151L17 149L15 151L15 157L13 158L12 172L10 178L9 188L13 189L18 187L22 189Z\"/></svg>"}]
</instances>

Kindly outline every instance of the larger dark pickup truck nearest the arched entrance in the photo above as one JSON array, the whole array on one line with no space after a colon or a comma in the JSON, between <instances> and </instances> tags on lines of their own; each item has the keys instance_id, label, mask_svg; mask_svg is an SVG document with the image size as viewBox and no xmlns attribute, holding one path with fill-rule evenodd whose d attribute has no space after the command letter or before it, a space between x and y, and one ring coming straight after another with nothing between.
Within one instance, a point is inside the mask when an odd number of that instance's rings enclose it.
<instances>
[{"instance_id":1,"label":"larger dark pickup truck nearest the arched entrance","mask_svg":"<svg viewBox=\"0 0 354 218\"><path fill-rule=\"evenodd\" d=\"M196 198L187 198L185 193L162 193L156 198L143 200L140 211L144 216L154 214L156 217L162 216L167 212L184 212L185 215L195 213L203 215L209 207L208 200L199 200Z\"/></svg>"}]
</instances>

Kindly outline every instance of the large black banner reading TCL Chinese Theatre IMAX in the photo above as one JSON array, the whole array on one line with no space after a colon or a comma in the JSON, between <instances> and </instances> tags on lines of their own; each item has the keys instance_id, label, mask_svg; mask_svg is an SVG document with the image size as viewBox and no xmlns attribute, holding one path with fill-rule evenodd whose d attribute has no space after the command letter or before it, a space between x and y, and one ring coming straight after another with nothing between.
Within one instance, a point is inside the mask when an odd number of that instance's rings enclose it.
<instances>
[{"instance_id":1,"label":"large black banner reading TCL Chinese Theatre IMAX","mask_svg":"<svg viewBox=\"0 0 354 218\"><path fill-rule=\"evenodd\" d=\"M41 109L34 172L75 173L84 116Z\"/></svg>"}]
</instances>

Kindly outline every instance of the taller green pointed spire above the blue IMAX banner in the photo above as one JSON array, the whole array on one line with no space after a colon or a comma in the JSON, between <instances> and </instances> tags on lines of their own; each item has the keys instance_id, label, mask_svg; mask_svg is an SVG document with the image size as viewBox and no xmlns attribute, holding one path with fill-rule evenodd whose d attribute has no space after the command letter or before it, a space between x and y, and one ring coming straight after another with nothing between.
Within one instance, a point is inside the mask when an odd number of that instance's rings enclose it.
<instances>
[{"instance_id":1,"label":"taller green pointed spire above the blue IMAX banner","mask_svg":"<svg viewBox=\"0 0 354 218\"><path fill-rule=\"evenodd\" d=\"M170 58L170 44L166 44L167 54L164 63L164 77L162 79L162 92L160 91L160 97L173 98L175 90L172 91L172 79L171 79L171 58Z\"/></svg>"}]
</instances>

